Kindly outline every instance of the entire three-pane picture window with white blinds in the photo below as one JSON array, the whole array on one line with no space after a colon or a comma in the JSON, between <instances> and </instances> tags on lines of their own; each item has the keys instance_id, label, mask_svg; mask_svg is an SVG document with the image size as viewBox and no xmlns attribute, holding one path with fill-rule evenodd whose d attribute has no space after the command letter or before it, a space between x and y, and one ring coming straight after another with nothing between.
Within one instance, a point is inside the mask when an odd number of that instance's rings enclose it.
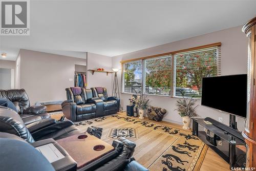
<instances>
[{"instance_id":1,"label":"entire three-pane picture window with white blinds","mask_svg":"<svg viewBox=\"0 0 256 171\"><path fill-rule=\"evenodd\" d=\"M202 78L220 75L220 45L191 49L123 62L122 92L201 98Z\"/></svg>"}]
</instances>

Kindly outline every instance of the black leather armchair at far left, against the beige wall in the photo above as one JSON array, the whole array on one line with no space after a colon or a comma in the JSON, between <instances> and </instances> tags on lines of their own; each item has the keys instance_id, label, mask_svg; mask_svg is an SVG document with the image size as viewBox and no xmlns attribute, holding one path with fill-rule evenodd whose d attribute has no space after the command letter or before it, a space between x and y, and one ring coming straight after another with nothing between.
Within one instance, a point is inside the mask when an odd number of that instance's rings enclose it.
<instances>
[{"instance_id":1,"label":"black leather armchair at far left, against the beige wall","mask_svg":"<svg viewBox=\"0 0 256 171\"><path fill-rule=\"evenodd\" d=\"M30 106L28 95L24 89L0 90L0 98L13 102L17 113L26 125L50 118L50 115L46 112L46 106Z\"/></svg>"}]
</instances>

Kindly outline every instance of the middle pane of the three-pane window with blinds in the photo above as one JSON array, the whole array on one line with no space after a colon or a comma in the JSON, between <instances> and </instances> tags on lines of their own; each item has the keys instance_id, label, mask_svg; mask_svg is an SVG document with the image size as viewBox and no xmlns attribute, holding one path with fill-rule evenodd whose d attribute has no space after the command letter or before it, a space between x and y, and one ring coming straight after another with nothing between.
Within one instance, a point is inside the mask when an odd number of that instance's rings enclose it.
<instances>
[{"instance_id":1,"label":"middle pane of the three-pane window with blinds","mask_svg":"<svg viewBox=\"0 0 256 171\"><path fill-rule=\"evenodd\" d=\"M163 56L144 60L145 94L171 95L172 56Z\"/></svg>"}]
</instances>

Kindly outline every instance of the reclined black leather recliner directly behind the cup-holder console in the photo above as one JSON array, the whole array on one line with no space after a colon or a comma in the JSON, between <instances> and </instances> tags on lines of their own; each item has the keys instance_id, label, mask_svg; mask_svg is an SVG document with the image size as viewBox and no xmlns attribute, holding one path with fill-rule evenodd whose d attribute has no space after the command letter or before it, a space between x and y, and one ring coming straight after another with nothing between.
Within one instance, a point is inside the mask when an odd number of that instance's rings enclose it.
<instances>
[{"instance_id":1,"label":"reclined black leather recliner directly behind the cup-holder console","mask_svg":"<svg viewBox=\"0 0 256 171\"><path fill-rule=\"evenodd\" d=\"M3 106L0 106L0 132L17 135L29 143L47 138L58 140L81 133L70 120L58 122L47 118L25 125L15 111Z\"/></svg>"}]
</instances>

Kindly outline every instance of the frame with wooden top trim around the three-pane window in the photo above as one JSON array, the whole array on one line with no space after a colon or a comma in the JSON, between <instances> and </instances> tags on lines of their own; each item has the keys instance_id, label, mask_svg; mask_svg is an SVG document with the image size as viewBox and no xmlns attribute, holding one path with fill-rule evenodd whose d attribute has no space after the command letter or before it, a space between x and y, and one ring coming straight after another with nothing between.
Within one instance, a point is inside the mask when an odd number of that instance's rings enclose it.
<instances>
[{"instance_id":1,"label":"frame with wooden top trim around the three-pane window","mask_svg":"<svg viewBox=\"0 0 256 171\"><path fill-rule=\"evenodd\" d=\"M147 56L147 57L141 57L141 58L136 58L136 59L130 59L130 60L124 60L121 61L121 66L122 66L122 77L121 77L121 81L122 81L122 90L121 93L122 94L135 94L135 93L128 93L128 92L124 92L123 91L123 87L124 87L124 68L123 65L125 63L129 63L129 62L134 62L134 61L140 61L142 68L141 68L141 73L142 73L142 83L141 83L141 93L138 94L143 94L143 95L147 95L147 96L158 96L158 97L170 97L170 98L183 98L181 96L176 96L176 59L175 59L175 55L178 54L182 54L182 53L189 53L189 52L194 52L194 51L201 51L201 50L205 50L205 49L217 49L217 76L221 75L221 42L217 42L215 44L209 44L209 45L204 45L204 46L199 46L199 47L195 47L195 48L189 48L189 49L183 49L183 50L179 50L179 51L174 51L174 52L168 52L168 53L163 53L163 54L158 54L158 55L152 55L152 56ZM154 58L161 58L161 57L165 57L165 56L170 56L171 57L171 76L170 76L170 95L161 95L161 94L149 94L144 92L145 89L145 71L144 71L144 67L145 67L145 61L146 59L154 59ZM184 98L189 98L189 97L184 97ZM194 99L201 99L201 98L194 98Z\"/></svg>"}]
</instances>

